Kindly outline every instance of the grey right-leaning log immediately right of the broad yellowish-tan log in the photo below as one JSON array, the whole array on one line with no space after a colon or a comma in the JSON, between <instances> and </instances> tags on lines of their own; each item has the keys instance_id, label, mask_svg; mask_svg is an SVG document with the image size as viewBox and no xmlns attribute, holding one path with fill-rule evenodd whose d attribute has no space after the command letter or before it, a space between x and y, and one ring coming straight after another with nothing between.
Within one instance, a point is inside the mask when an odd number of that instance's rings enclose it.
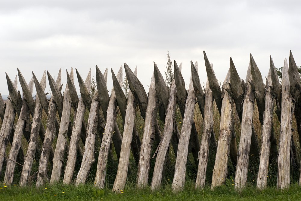
<instances>
[{"instance_id":1,"label":"grey right-leaning log immediately right of the broad yellowish-tan log","mask_svg":"<svg viewBox=\"0 0 301 201\"><path fill-rule=\"evenodd\" d=\"M249 166L249 154L253 127L253 109L255 94L250 82L252 81L251 64L247 72L247 89L243 102L243 113L240 131L240 143L238 148L237 166L235 172L235 190L242 190L247 183L247 173Z\"/></svg>"}]
</instances>

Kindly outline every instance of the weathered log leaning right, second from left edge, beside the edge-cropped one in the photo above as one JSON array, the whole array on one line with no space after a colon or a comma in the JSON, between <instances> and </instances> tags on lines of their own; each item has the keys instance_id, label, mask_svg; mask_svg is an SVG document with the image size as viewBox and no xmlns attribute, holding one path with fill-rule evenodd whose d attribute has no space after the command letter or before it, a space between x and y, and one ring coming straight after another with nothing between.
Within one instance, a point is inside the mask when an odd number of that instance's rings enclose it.
<instances>
[{"instance_id":1,"label":"weathered log leaning right, second from left edge, beside the edge-cropped one","mask_svg":"<svg viewBox=\"0 0 301 201\"><path fill-rule=\"evenodd\" d=\"M33 79L31 79L31 81L29 82L29 90L32 94ZM25 129L27 132L29 132L30 130L30 123L29 123L30 114L29 114L29 107L26 101L27 100L24 97L22 101L21 112L14 132L14 139L11 144L11 150L8 155L9 160L7 160L7 164L6 164L4 183L9 186L12 184L14 178L15 161L17 160L17 155L20 151L23 129Z\"/></svg>"}]
</instances>

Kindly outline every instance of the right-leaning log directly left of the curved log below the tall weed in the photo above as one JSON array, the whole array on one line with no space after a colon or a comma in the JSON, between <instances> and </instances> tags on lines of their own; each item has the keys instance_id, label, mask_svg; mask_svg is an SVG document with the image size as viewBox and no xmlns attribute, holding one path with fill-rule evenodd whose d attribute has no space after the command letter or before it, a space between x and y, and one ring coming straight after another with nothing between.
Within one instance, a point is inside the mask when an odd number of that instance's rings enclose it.
<instances>
[{"instance_id":1,"label":"right-leaning log directly left of the curved log below the tall weed","mask_svg":"<svg viewBox=\"0 0 301 201\"><path fill-rule=\"evenodd\" d=\"M138 163L137 187L146 187L151 166L151 150L155 139L155 127L157 123L158 97L155 90L154 73L148 92L147 111L144 123L144 132L141 143L140 160Z\"/></svg>"}]
</instances>

